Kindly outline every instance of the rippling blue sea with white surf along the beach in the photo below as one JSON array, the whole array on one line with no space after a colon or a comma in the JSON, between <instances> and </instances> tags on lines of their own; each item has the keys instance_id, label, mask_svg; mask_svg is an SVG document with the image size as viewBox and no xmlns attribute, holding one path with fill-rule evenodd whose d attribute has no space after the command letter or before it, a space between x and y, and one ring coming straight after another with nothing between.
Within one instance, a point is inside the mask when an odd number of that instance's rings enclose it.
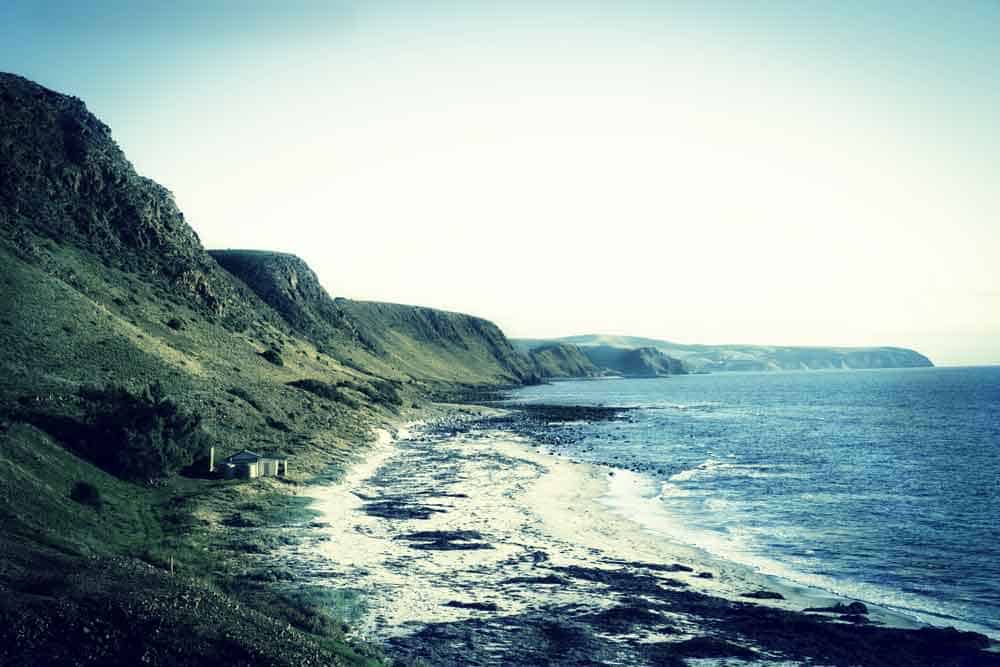
<instances>
[{"instance_id":1,"label":"rippling blue sea with white surf along the beach","mask_svg":"<svg viewBox=\"0 0 1000 667\"><path fill-rule=\"evenodd\" d=\"M637 408L578 459L638 469L669 537L1000 638L1000 367L569 381L514 401ZM628 508L620 508L628 512Z\"/></svg>"}]
</instances>

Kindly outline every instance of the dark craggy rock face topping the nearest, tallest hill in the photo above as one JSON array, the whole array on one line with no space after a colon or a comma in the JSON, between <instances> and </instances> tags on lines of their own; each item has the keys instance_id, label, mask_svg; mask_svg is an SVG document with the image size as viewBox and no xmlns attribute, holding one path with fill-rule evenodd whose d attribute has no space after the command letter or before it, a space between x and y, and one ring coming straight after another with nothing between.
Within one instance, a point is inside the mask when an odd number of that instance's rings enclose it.
<instances>
[{"instance_id":1,"label":"dark craggy rock face topping the nearest, tallest hill","mask_svg":"<svg viewBox=\"0 0 1000 667\"><path fill-rule=\"evenodd\" d=\"M238 311L169 190L140 176L107 125L75 97L0 73L0 234L23 257L34 239L161 279L214 315Z\"/></svg>"}]
</instances>

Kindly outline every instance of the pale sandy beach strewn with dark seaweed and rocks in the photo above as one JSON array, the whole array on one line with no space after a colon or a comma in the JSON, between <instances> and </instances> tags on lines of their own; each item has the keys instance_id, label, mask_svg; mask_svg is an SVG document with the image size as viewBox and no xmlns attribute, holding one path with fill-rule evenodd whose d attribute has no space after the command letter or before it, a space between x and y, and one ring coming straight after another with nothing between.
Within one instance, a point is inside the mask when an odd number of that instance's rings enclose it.
<instances>
[{"instance_id":1,"label":"pale sandy beach strewn with dark seaweed and rocks","mask_svg":"<svg viewBox=\"0 0 1000 667\"><path fill-rule=\"evenodd\" d=\"M903 639L956 655L984 648L972 633L914 630L875 607L803 614L851 600L672 542L609 503L622 471L477 426L500 411L461 412L392 441L383 433L340 483L305 489L320 516L272 556L299 584L359 591L357 636L404 664L885 664L869 658ZM783 599L743 596L761 591Z\"/></svg>"}]
</instances>

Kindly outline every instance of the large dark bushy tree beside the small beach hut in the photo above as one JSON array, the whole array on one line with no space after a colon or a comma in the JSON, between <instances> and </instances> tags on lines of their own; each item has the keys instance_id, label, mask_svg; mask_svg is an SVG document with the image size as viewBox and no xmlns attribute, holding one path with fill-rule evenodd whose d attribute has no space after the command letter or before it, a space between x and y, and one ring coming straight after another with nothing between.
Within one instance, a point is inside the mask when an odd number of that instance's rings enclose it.
<instances>
[{"instance_id":1,"label":"large dark bushy tree beside the small beach hut","mask_svg":"<svg viewBox=\"0 0 1000 667\"><path fill-rule=\"evenodd\" d=\"M154 383L137 394L125 387L82 387L87 423L81 453L124 479L163 477L203 449L201 417L184 412Z\"/></svg>"}]
</instances>

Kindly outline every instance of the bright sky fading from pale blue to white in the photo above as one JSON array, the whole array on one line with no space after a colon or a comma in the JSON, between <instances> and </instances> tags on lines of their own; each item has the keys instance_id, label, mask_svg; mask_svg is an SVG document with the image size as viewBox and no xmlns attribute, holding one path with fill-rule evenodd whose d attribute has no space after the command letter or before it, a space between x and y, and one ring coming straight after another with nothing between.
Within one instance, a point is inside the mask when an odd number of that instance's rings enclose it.
<instances>
[{"instance_id":1,"label":"bright sky fading from pale blue to white","mask_svg":"<svg viewBox=\"0 0 1000 667\"><path fill-rule=\"evenodd\" d=\"M208 248L509 336L1000 363L1000 2L0 0Z\"/></svg>"}]
</instances>

